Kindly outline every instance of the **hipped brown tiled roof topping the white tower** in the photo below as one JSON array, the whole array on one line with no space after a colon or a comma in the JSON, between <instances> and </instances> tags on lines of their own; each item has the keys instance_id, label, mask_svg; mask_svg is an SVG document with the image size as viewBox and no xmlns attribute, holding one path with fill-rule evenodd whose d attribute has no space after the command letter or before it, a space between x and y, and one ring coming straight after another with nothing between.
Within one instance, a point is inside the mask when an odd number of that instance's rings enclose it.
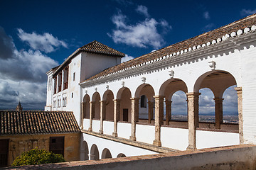
<instances>
[{"instance_id":1,"label":"hipped brown tiled roof topping the white tower","mask_svg":"<svg viewBox=\"0 0 256 170\"><path fill-rule=\"evenodd\" d=\"M80 50L85 52L98 53L102 55L113 55L113 56L119 56L119 57L125 56L124 53L114 50L113 48L108 47L107 45L104 45L100 42L97 42L96 40L90 42L87 45L80 47Z\"/></svg>"}]
</instances>

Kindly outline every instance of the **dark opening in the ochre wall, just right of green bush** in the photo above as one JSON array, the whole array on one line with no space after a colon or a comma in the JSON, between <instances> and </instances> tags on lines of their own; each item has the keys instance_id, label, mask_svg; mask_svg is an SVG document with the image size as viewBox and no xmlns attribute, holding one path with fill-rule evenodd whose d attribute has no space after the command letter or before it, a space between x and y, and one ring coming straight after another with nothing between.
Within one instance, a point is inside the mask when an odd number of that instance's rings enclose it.
<instances>
[{"instance_id":1,"label":"dark opening in the ochre wall, just right of green bush","mask_svg":"<svg viewBox=\"0 0 256 170\"><path fill-rule=\"evenodd\" d=\"M64 137L50 137L50 152L62 154L64 157Z\"/></svg>"}]
</instances>

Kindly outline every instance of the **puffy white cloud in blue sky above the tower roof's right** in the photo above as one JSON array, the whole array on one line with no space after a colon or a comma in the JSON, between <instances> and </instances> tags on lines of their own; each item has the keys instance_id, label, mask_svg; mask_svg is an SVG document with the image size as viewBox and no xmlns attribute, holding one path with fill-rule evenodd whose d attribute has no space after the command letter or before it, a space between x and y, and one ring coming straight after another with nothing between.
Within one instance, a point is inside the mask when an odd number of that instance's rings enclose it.
<instances>
[{"instance_id":1,"label":"puffy white cloud in blue sky above the tower roof's right","mask_svg":"<svg viewBox=\"0 0 256 170\"><path fill-rule=\"evenodd\" d=\"M156 21L154 18L146 18L136 24L126 23L127 16L121 11L112 17L112 22L116 26L112 34L108 34L115 43L124 43L133 47L146 47L150 45L159 48L164 45L164 38L157 28L162 28L164 33L170 30L171 26L167 21ZM163 34L164 34L163 33Z\"/></svg>"}]
</instances>

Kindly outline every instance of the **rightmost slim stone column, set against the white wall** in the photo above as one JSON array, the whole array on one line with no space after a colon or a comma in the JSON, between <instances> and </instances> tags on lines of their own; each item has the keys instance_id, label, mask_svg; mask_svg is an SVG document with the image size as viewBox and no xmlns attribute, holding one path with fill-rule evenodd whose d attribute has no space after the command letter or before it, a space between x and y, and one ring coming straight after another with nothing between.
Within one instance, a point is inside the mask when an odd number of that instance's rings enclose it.
<instances>
[{"instance_id":1,"label":"rightmost slim stone column, set against the white wall","mask_svg":"<svg viewBox=\"0 0 256 170\"><path fill-rule=\"evenodd\" d=\"M238 119L239 119L239 142L244 143L243 139L243 122L242 122L242 87L235 87L238 93Z\"/></svg>"}]
</instances>

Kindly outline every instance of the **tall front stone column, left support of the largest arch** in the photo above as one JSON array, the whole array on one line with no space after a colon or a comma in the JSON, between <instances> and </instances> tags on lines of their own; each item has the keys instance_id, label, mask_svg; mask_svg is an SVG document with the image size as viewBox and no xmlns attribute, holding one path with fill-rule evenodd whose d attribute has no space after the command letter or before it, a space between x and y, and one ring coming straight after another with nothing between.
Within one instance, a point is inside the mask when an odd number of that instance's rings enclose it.
<instances>
[{"instance_id":1,"label":"tall front stone column, left support of the largest arch","mask_svg":"<svg viewBox=\"0 0 256 170\"><path fill-rule=\"evenodd\" d=\"M200 93L187 93L188 97L188 147L196 149L196 115L198 115L198 98Z\"/></svg>"}]
</instances>

